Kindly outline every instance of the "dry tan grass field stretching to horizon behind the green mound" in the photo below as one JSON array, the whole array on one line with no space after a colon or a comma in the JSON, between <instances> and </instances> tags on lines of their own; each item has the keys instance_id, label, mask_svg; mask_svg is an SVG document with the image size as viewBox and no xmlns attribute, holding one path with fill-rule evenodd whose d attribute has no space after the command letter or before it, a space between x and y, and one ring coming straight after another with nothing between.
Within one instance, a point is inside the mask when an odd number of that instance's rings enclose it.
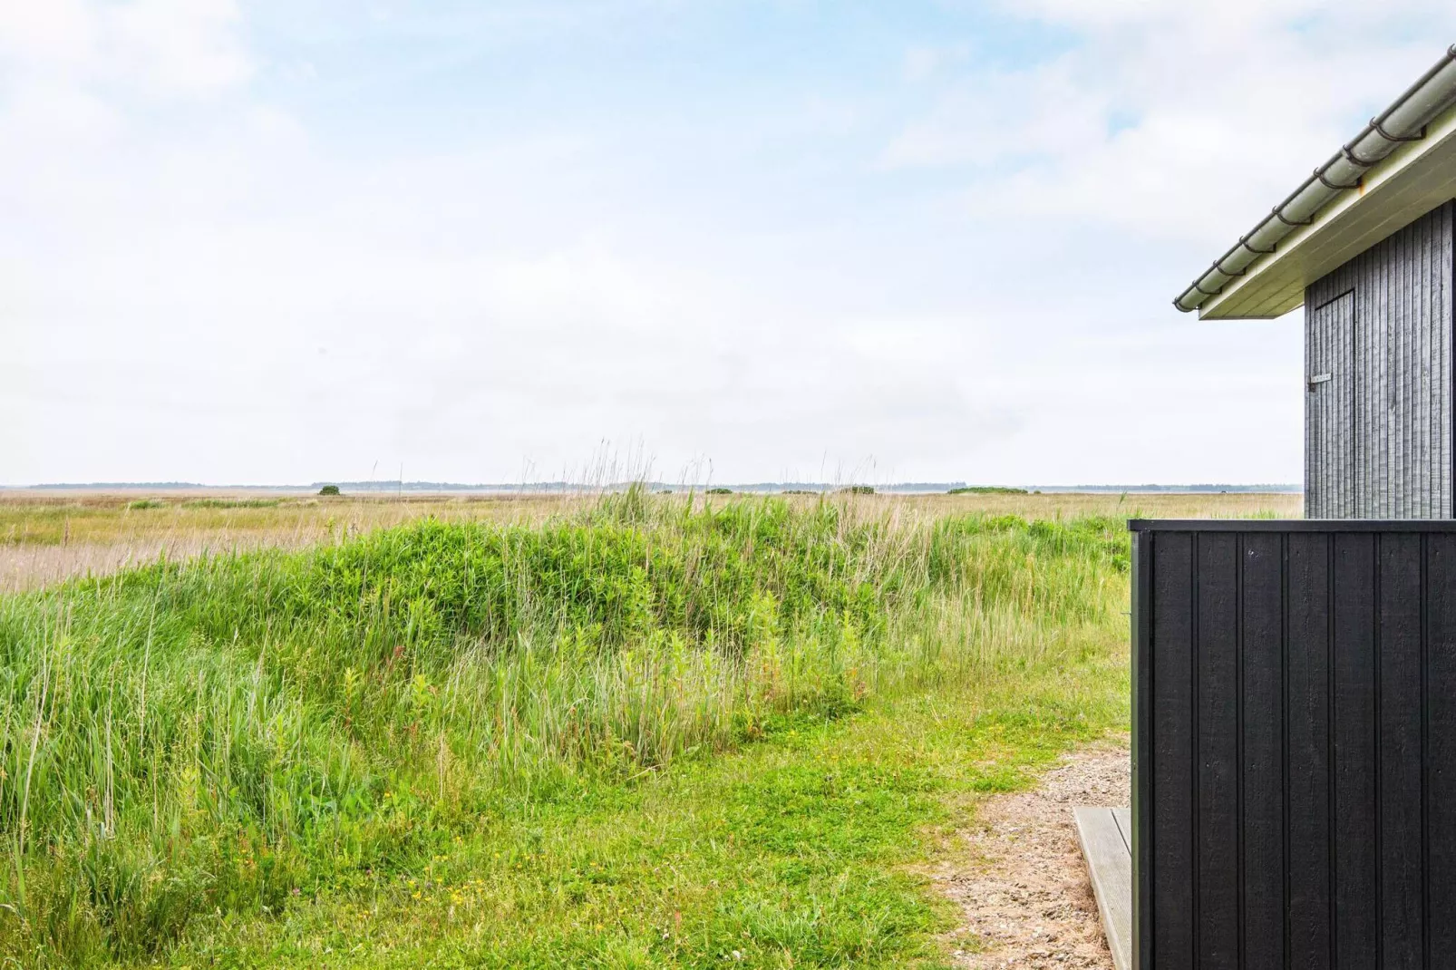
<instances>
[{"instance_id":1,"label":"dry tan grass field stretching to horizon behind the green mound","mask_svg":"<svg viewBox=\"0 0 1456 970\"><path fill-rule=\"evenodd\" d=\"M722 504L729 497L705 501ZM162 556L335 543L425 517L531 524L569 514L584 495L371 495L317 498L258 492L0 492L0 593L80 575L108 575ZM791 501L812 502L796 495ZM866 495L856 502L910 516L1024 518L1294 518L1290 494L1057 492L1042 495Z\"/></svg>"}]
</instances>

